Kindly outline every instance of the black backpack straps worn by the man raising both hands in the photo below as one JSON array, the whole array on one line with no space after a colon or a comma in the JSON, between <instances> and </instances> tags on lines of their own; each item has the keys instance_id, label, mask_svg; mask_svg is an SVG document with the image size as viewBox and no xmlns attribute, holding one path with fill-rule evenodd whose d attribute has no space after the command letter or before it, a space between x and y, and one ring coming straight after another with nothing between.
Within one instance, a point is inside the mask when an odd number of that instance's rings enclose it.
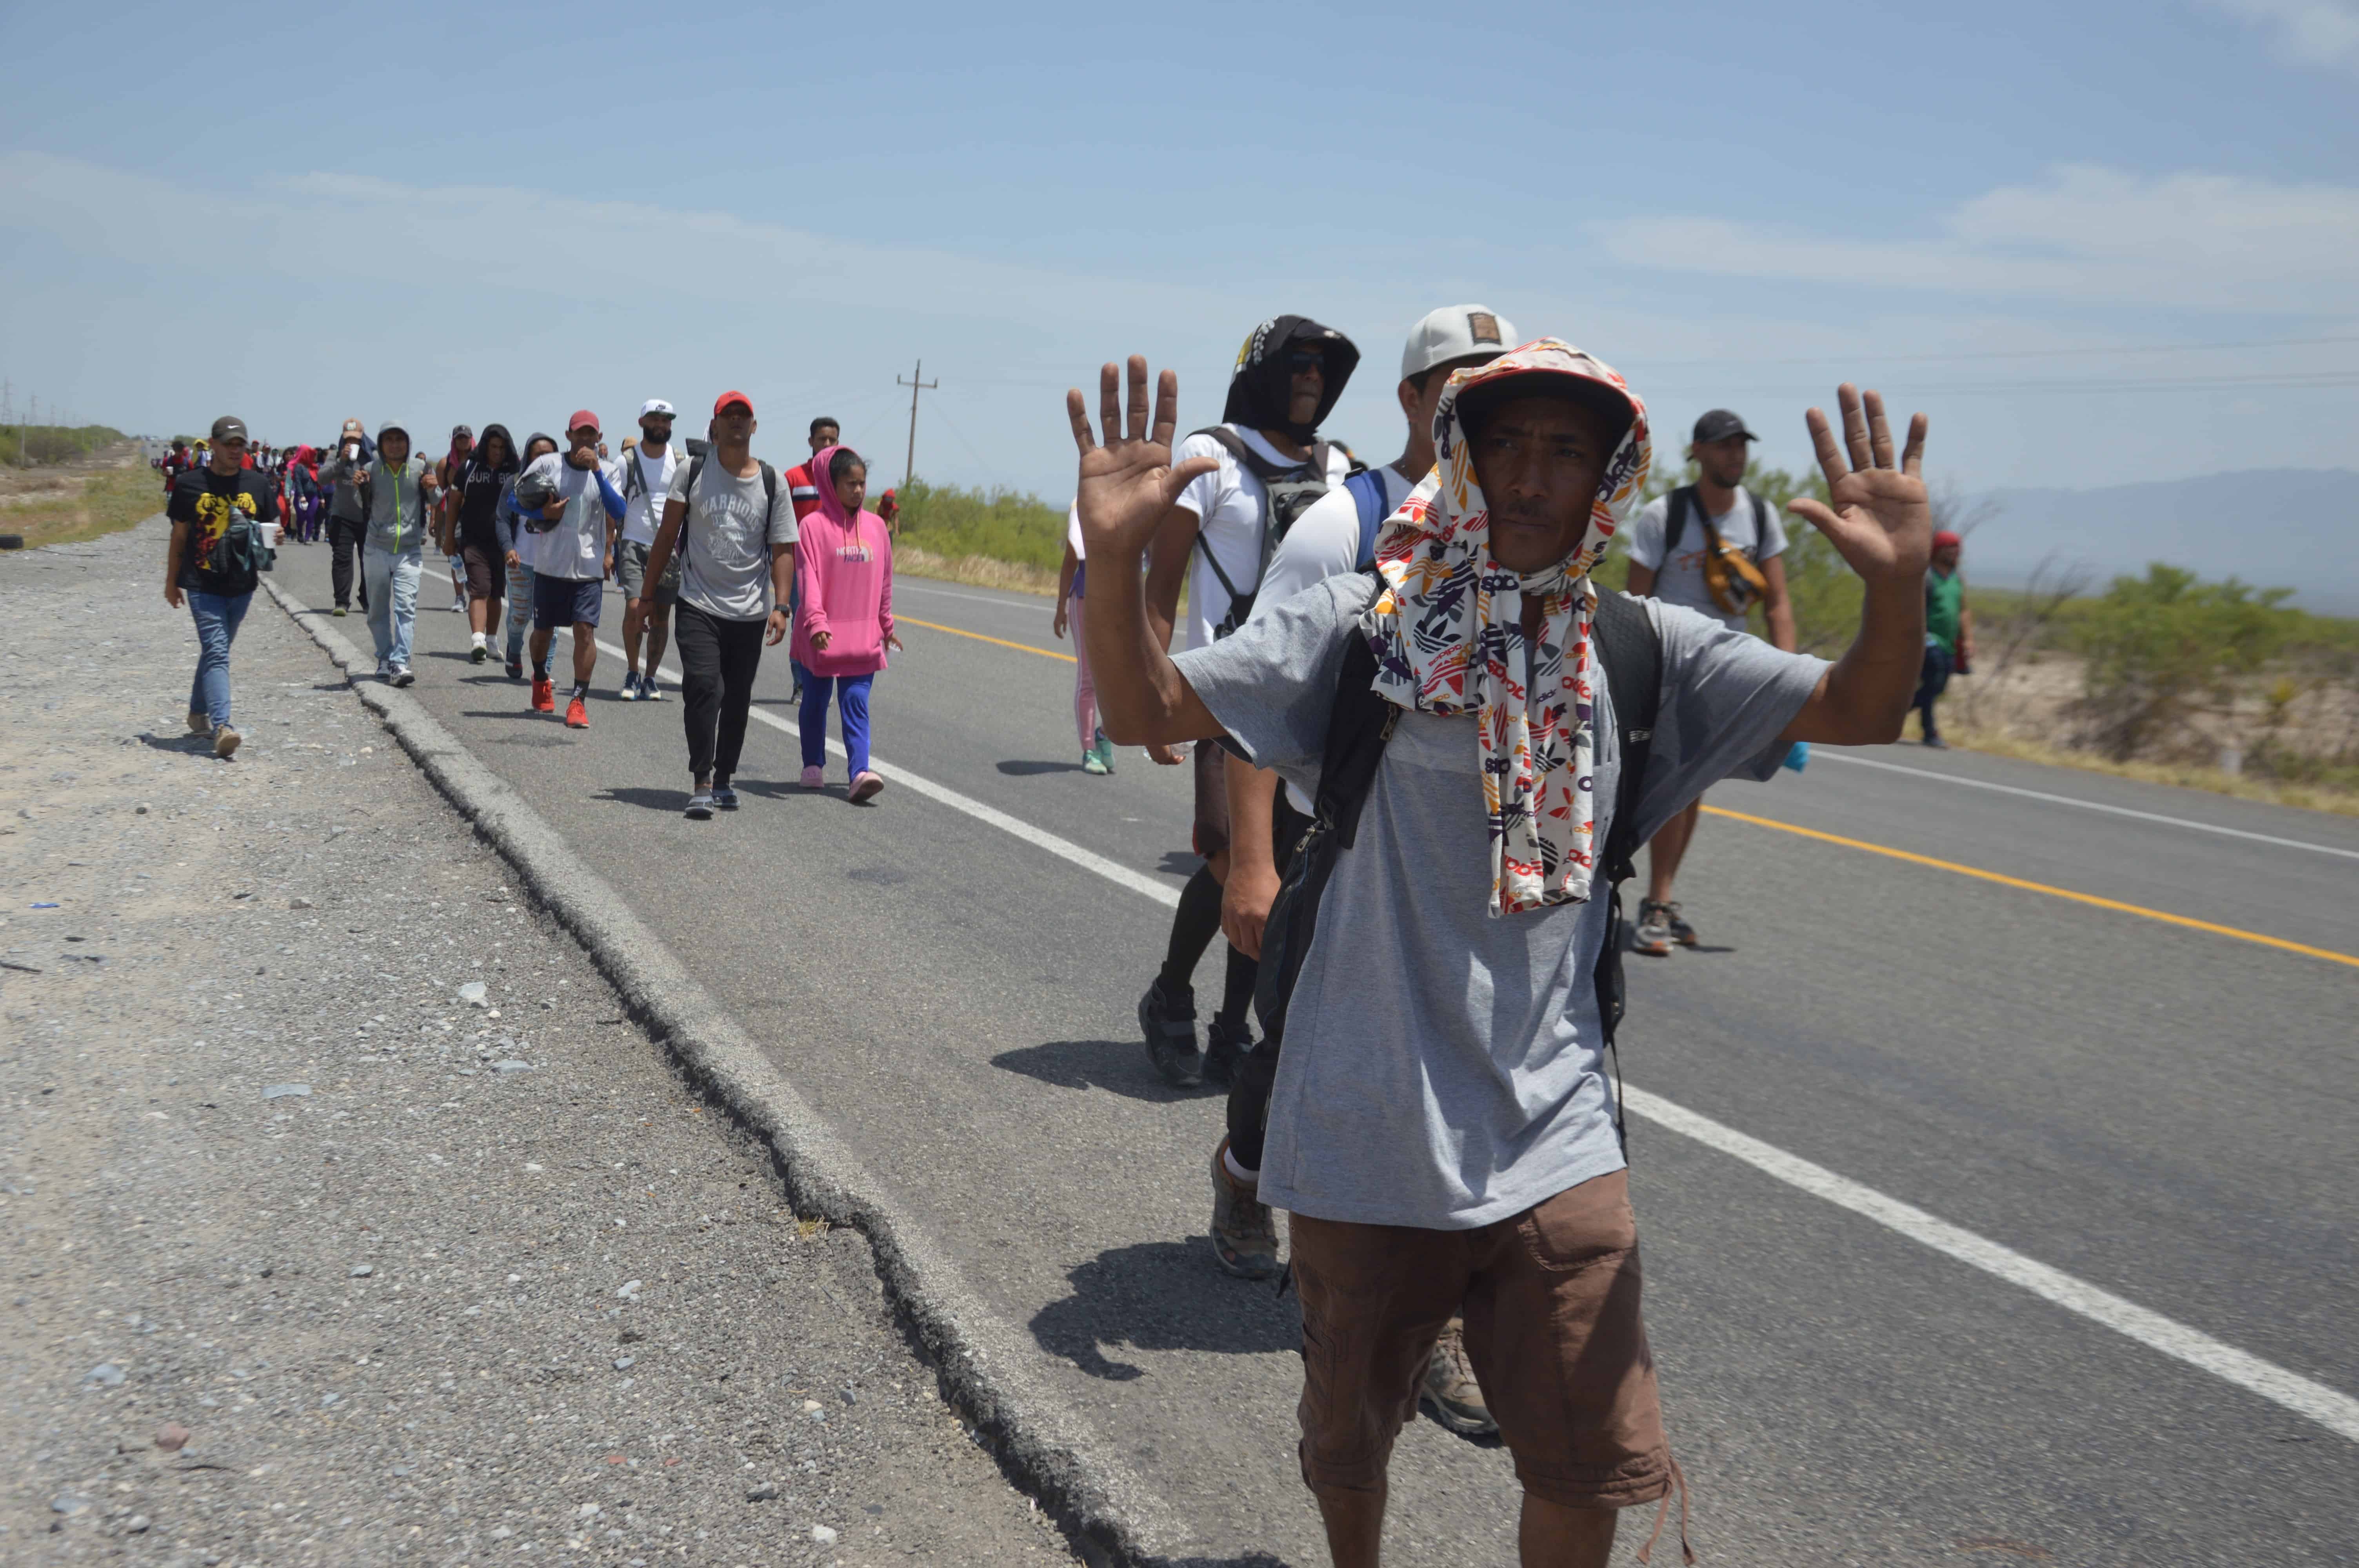
<instances>
[{"instance_id":1,"label":"black backpack straps worn by the man raising both hands","mask_svg":"<svg viewBox=\"0 0 2359 1568\"><path fill-rule=\"evenodd\" d=\"M1621 780L1614 790L1614 825L1606 830L1602 868L1609 884L1606 938L1597 950L1597 1016L1604 1023L1604 1047L1614 1049L1614 1030L1623 1016L1623 910L1621 884L1632 872L1637 854L1637 792L1654 750L1654 719L1663 700L1663 639L1644 606L1623 594L1597 594L1597 660L1604 665L1606 691L1614 696L1614 729L1621 738ZM1401 710L1375 693L1375 653L1356 632L1345 644L1342 674L1335 679L1335 707L1328 712L1326 745L1319 757L1319 802L1312 825L1295 849L1295 863L1269 905L1262 927L1262 967L1253 986L1253 1012L1262 1021L1262 1045L1255 1054L1276 1054L1286 1037L1286 1004L1302 957L1319 931L1319 901L1326 896L1335 856L1359 837L1359 811L1375 785L1375 764L1385 757L1392 726ZM1595 889L1590 894L1595 898ZM1616 1068L1621 1056L1616 1054ZM1614 1101L1621 1132L1621 1096ZM1628 1132L1623 1132L1628 1144Z\"/></svg>"}]
</instances>

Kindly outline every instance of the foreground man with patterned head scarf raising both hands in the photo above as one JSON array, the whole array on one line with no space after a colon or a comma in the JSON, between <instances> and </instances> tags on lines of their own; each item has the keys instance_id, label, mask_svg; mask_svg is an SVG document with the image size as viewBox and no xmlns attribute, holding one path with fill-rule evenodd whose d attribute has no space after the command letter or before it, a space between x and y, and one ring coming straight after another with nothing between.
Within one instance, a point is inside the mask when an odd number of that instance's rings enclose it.
<instances>
[{"instance_id":1,"label":"foreground man with patterned head scarf raising both hands","mask_svg":"<svg viewBox=\"0 0 2359 1568\"><path fill-rule=\"evenodd\" d=\"M1118 380L1099 377L1104 446L1066 396L1102 559L1144 547L1210 472L1170 457L1177 377L1151 429L1146 361L1130 361L1128 417ZM1524 1563L1602 1568L1614 1511L1668 1509L1682 1485L1640 1318L1597 960L1630 846L1701 788L1767 778L1795 740L1899 733L1925 639L1925 422L1894 455L1878 394L1842 387L1840 417L1838 439L1809 410L1831 505L1790 512L1861 575L1857 639L1826 665L1640 601L1658 684L1651 738L1628 731L1647 747L1628 792L1616 705L1647 712L1649 693L1606 684L1590 568L1647 483L1647 408L1569 344L1451 375L1437 469L1387 519L1375 573L1177 658L1137 594L1090 606L1116 740L1224 738L1309 792L1330 835L1297 851L1328 877L1286 1000L1262 1200L1290 1214L1302 1478L1342 1568L1378 1561L1392 1441L1460 1304L1524 1488ZM1630 608L1611 618L1630 627ZM1345 705L1375 745L1342 757L1366 780L1352 802L1321 792ZM1621 811L1635 835L1614 830Z\"/></svg>"}]
</instances>

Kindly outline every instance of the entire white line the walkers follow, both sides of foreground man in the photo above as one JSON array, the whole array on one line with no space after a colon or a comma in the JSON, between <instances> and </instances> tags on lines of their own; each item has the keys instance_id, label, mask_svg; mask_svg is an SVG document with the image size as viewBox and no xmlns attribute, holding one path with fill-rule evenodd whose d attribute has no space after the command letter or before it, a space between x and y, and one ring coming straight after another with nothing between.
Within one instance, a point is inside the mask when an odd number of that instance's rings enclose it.
<instances>
[{"instance_id":1,"label":"entire white line the walkers follow, both sides of foreground man","mask_svg":"<svg viewBox=\"0 0 2359 1568\"><path fill-rule=\"evenodd\" d=\"M602 641L599 648L611 653L613 658L623 658L623 651L609 641ZM668 667L663 674L672 677L675 681L679 679L679 670ZM771 729L786 731L788 736L797 738L802 736L800 729L795 729L786 719L776 719L762 712L760 707L753 710L753 717L760 719L762 724L769 724ZM830 740L828 752L842 757L845 747ZM906 790L941 802L953 811L965 811L979 823L988 823L1000 832L1010 832L1024 839L1026 844L1045 849L1062 861L1071 861L1083 870L1092 870L1118 887L1128 887L1135 894L1144 894L1165 908L1180 903L1177 889L1165 887L1154 877L1142 877L1128 865L1116 865L1113 861L1092 854L1080 844L1071 844L1057 837L1054 832L1043 832L1040 828L1017 821L1005 811L986 806L979 799L960 795L958 790L946 790L932 780L918 778L906 769L887 766L873 757L868 759L868 766L873 766L882 778L903 785ZM2248 1351L2239 1351L2232 1344L2222 1344L2220 1339L2213 1339L2201 1330L2187 1327L2184 1323L2175 1323L2173 1318L2166 1318L2156 1311L2147 1311L2144 1306L2125 1302L2123 1297L2116 1297L2107 1290L2097 1290L2095 1285L2076 1280L2062 1269L2050 1269L2038 1259L2024 1257L2012 1247L2003 1247L1996 1240L1989 1240L1986 1236L1974 1236L1972 1231L1953 1226L1946 1219L1937 1219L1916 1205L1901 1203L1899 1198L1887 1198L1885 1193L1878 1193L1873 1186L1861 1186L1849 1177L1838 1177L1824 1165L1812 1165L1809 1160L1790 1155L1783 1148L1776 1148L1774 1144L1762 1144L1755 1137L1746 1137L1743 1132L1715 1122L1708 1115L1698 1115L1687 1106L1673 1103L1661 1094L1649 1094L1647 1089L1625 1087L1623 1099L1632 1111L1644 1115L1649 1122L1658 1122L1663 1127L1670 1127L1673 1132L1696 1139L1706 1148L1717 1148L1720 1153L1743 1160L1746 1165L1767 1172L1779 1181L1809 1193L1812 1198L1824 1198L1826 1203L1833 1203L1840 1210L1849 1210L1864 1219L1873 1219L1875 1224L1890 1231L1899 1231L1908 1240L1932 1247L1944 1257L1953 1257L1960 1264L1982 1269L1993 1278L2029 1290L2043 1302L2052 1302L2064 1311L2078 1313L2090 1323L2097 1323L2102 1327L2114 1330L2116 1335L2135 1339L2147 1349L2161 1351L2173 1361L2184 1361L2192 1368L2199 1368L2203 1372L2210 1372L2213 1377L2232 1382L2248 1394L2258 1394L2274 1405L2284 1405L2286 1410L2309 1417L2319 1427L2326 1427L2328 1431L2340 1434L2352 1443L2359 1443L2359 1398L2328 1389L2321 1382L2312 1382L2300 1372L2288 1372L2286 1368L2267 1363Z\"/></svg>"}]
</instances>

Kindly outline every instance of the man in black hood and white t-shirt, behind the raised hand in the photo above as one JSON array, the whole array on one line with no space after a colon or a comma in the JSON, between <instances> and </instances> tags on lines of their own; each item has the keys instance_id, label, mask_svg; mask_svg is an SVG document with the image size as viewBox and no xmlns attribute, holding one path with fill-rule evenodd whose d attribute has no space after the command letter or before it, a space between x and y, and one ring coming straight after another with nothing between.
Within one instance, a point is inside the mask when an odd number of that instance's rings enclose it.
<instances>
[{"instance_id":1,"label":"man in black hood and white t-shirt, behind the raised hand","mask_svg":"<svg viewBox=\"0 0 2359 1568\"><path fill-rule=\"evenodd\" d=\"M1340 486L1352 453L1319 441L1319 422L1335 408L1359 349L1307 316L1276 316L1253 328L1229 375L1220 424L1180 443L1180 462L1203 472L1172 500L1156 528L1146 566L1149 618L1170 646L1187 580L1187 646L1208 648L1246 625L1269 554L1319 495ZM1104 556L1121 559L1121 556ZM1194 571L1189 564L1194 561ZM1158 752L1156 762L1177 762ZM1250 1035L1253 960L1229 950L1220 1012L1196 1045L1194 974L1220 931L1220 882L1229 870L1229 795L1220 750L1196 752L1196 854L1205 856L1180 891L1163 969L1139 997L1146 1059L1168 1082L1191 1089L1210 1075L1229 1082ZM1276 1254L1217 1247L1222 1269L1246 1278L1279 1271Z\"/></svg>"}]
</instances>

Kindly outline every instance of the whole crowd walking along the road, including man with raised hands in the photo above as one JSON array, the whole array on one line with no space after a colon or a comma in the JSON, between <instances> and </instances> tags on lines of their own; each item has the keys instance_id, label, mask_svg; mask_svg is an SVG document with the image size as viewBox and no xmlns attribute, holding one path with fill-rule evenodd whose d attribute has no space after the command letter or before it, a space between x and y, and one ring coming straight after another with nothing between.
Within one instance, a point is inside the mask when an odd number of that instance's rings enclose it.
<instances>
[{"instance_id":1,"label":"whole crowd walking along the road, including man with raised hands","mask_svg":"<svg viewBox=\"0 0 2359 1568\"><path fill-rule=\"evenodd\" d=\"M1411 328L1401 453L1371 467L1321 434L1359 363L1335 328L1264 321L1220 422L1184 439L1177 377L1149 391L1144 361L1104 365L1095 417L1071 394L1052 632L1076 648L1083 769L1139 745L1194 773L1201 863L1137 1023L1156 1075L1229 1096L1208 1151L1215 1264L1279 1276L1274 1214L1290 1214L1300 1460L1335 1561L1375 1563L1389 1448L1422 1403L1514 1455L1526 1563L1602 1563L1616 1509L1684 1497L1604 1061L1621 955L1698 943L1673 891L1706 788L1767 780L1809 743L1890 740L1911 705L1939 743L1932 700L1972 637L1958 540L1930 528L1923 417L1894 441L1852 387L1835 420L1809 410L1826 500L1788 514L1866 597L1849 651L1802 655L1786 523L1743 483L1757 436L1736 413L1698 417L1691 481L1649 500L1642 396L1588 351L1453 304ZM823 785L833 705L849 797L873 799L870 698L901 641L866 460L811 420L809 457L781 474L753 455L743 391L686 450L675 427L649 398L620 457L585 408L521 446L458 427L429 460L399 422L257 455L217 420L167 467L165 597L186 597L201 639L191 731L238 745L229 644L269 564L257 523L281 516L288 538L326 533L330 613L359 594L394 686L415 679L429 545L469 660L500 653L533 712L559 710L569 632L571 729L590 726L613 580L618 696L665 700L679 655L689 818L738 806L755 674L786 641L800 783ZM1590 580L1616 538L1630 597ZM1625 929L1618 887L1647 844ZM1222 995L1198 1033L1215 936Z\"/></svg>"}]
</instances>

